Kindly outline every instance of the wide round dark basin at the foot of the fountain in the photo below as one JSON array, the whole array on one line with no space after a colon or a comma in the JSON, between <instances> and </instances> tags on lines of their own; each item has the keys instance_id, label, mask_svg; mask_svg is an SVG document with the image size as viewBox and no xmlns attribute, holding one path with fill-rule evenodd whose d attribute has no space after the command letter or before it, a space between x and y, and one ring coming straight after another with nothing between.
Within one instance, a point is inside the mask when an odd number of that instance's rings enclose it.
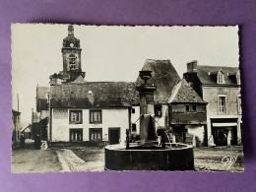
<instances>
[{"instance_id":1,"label":"wide round dark basin at the foot of the fountain","mask_svg":"<svg viewBox=\"0 0 256 192\"><path fill-rule=\"evenodd\" d=\"M193 147L185 144L131 145L129 150L111 145L104 151L108 170L194 170Z\"/></svg>"}]
</instances>

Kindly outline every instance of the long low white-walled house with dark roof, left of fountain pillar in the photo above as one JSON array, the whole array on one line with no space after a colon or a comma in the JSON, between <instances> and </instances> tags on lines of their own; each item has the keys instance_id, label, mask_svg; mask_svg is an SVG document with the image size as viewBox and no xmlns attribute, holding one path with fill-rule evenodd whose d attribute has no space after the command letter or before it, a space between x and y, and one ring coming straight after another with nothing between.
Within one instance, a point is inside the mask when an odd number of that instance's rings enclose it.
<instances>
[{"instance_id":1,"label":"long low white-walled house with dark roof, left of fountain pillar","mask_svg":"<svg viewBox=\"0 0 256 192\"><path fill-rule=\"evenodd\" d=\"M50 90L50 141L124 142L135 83L87 82Z\"/></svg>"}]
</instances>

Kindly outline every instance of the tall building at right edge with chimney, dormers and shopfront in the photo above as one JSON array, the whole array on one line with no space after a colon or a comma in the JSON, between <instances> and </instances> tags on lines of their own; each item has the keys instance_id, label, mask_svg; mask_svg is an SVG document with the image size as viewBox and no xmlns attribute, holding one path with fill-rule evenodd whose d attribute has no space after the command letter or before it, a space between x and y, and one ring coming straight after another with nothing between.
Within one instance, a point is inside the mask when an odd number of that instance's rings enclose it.
<instances>
[{"instance_id":1,"label":"tall building at right edge with chimney, dormers and shopfront","mask_svg":"<svg viewBox=\"0 0 256 192\"><path fill-rule=\"evenodd\" d=\"M184 79L207 105L207 136L216 145L240 145L242 135L240 73L238 67L187 64Z\"/></svg>"}]
</instances>

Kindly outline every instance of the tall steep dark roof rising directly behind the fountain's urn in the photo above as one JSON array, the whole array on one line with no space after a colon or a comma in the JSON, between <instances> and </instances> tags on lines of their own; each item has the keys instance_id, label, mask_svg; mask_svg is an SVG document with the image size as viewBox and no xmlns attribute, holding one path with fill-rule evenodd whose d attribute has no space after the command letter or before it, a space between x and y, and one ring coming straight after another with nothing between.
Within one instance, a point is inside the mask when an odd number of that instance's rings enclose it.
<instances>
[{"instance_id":1,"label":"tall steep dark roof rising directly behind the fountain's urn","mask_svg":"<svg viewBox=\"0 0 256 192\"><path fill-rule=\"evenodd\" d=\"M153 60L147 59L143 70L150 70L152 78L148 81L150 84L157 86L154 94L156 103L167 103L174 86L180 81L180 77L169 60ZM138 77L137 85L143 83Z\"/></svg>"}]
</instances>

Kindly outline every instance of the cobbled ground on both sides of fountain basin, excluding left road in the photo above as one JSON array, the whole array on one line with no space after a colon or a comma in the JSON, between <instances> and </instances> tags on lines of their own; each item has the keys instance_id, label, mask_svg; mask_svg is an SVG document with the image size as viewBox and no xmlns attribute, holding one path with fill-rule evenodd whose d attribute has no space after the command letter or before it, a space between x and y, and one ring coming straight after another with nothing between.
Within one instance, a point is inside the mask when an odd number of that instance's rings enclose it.
<instances>
[{"instance_id":1,"label":"cobbled ground on both sides of fountain basin, excluding left road","mask_svg":"<svg viewBox=\"0 0 256 192\"><path fill-rule=\"evenodd\" d=\"M85 161L85 171L103 170L103 149L81 147L72 148L71 151ZM196 171L244 170L242 147L196 148L194 157ZM233 163L229 161L231 157L236 157L235 161L232 161Z\"/></svg>"}]
</instances>

